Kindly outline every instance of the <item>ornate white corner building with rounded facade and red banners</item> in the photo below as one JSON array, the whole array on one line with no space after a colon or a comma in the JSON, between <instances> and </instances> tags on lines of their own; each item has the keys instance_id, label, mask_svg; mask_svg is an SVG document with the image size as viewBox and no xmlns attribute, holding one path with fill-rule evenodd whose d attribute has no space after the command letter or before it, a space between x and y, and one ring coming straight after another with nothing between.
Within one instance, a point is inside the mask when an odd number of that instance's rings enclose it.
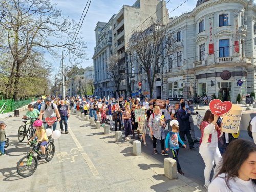
<instances>
[{"instance_id":1,"label":"ornate white corner building with rounded facade and red banners","mask_svg":"<svg viewBox=\"0 0 256 192\"><path fill-rule=\"evenodd\" d=\"M248 0L198 0L193 11L172 17L166 28L179 48L156 76L153 97L178 100L215 94L236 102L256 86L256 5ZM139 69L135 69L135 71ZM137 78L137 80L136 80ZM148 90L146 75L134 77ZM143 86L144 85L144 86ZM133 91L136 92L134 86Z\"/></svg>"}]
</instances>

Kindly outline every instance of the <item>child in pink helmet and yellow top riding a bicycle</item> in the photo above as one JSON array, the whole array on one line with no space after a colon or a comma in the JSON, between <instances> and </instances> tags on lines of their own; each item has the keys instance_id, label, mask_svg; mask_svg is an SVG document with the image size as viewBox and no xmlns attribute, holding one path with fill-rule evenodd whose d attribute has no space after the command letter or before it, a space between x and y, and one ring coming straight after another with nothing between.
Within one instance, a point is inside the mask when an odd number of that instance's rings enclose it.
<instances>
[{"instance_id":1,"label":"child in pink helmet and yellow top riding a bicycle","mask_svg":"<svg viewBox=\"0 0 256 192\"><path fill-rule=\"evenodd\" d=\"M37 142L40 143L41 151L42 151L42 154L40 155L40 157L45 158L46 157L45 146L47 145L49 139L46 135L46 131L45 131L44 127L42 126L42 121L41 120L34 121L33 127L35 127L35 129L36 129L35 135L33 137L31 137L28 142L32 141L35 137L37 137Z\"/></svg>"}]
</instances>

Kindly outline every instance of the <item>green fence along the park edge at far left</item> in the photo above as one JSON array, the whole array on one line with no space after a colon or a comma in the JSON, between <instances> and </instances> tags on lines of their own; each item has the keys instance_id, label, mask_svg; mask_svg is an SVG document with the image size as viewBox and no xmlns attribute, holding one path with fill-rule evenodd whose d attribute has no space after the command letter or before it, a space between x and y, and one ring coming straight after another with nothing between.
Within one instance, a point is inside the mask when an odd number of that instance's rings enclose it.
<instances>
[{"instance_id":1,"label":"green fence along the park edge at far left","mask_svg":"<svg viewBox=\"0 0 256 192\"><path fill-rule=\"evenodd\" d=\"M29 103L31 103L31 99L22 101L14 101L13 99L0 100L0 114L12 112Z\"/></svg>"}]
</instances>

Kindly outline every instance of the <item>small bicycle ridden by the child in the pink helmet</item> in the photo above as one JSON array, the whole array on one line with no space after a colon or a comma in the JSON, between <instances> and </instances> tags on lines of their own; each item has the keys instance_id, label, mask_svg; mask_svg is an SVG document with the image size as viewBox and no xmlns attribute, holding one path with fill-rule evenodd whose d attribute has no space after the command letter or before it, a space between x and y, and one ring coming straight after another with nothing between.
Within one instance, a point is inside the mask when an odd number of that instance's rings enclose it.
<instances>
[{"instance_id":1,"label":"small bicycle ridden by the child in the pink helmet","mask_svg":"<svg viewBox=\"0 0 256 192\"><path fill-rule=\"evenodd\" d=\"M41 160L40 157L41 152L40 150L40 143L37 143L37 140L33 139L31 142L29 142L29 145L32 148L32 150L24 157L22 157L18 163L17 163L17 172L22 177L29 177L31 176L37 166L38 166L38 160ZM37 157L34 156L34 153L37 154ZM46 158L45 160L47 162L51 161L55 153L55 146L54 146L54 139L50 137L47 145L46 145Z\"/></svg>"}]
</instances>

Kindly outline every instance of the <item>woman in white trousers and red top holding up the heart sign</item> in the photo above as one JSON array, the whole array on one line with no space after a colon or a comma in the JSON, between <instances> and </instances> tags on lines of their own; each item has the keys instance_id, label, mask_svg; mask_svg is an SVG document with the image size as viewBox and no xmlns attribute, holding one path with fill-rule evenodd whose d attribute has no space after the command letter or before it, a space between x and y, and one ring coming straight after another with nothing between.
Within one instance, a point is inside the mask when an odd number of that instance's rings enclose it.
<instances>
[{"instance_id":1,"label":"woman in white trousers and red top holding up the heart sign","mask_svg":"<svg viewBox=\"0 0 256 192\"><path fill-rule=\"evenodd\" d=\"M204 115L203 122L200 125L201 139L199 153L202 156L205 169L204 169L204 188L208 189L210 184L210 174L214 167L214 163L218 165L221 160L221 153L218 148L218 137L221 134L221 127L218 127L217 120L219 116L207 110Z\"/></svg>"}]
</instances>

